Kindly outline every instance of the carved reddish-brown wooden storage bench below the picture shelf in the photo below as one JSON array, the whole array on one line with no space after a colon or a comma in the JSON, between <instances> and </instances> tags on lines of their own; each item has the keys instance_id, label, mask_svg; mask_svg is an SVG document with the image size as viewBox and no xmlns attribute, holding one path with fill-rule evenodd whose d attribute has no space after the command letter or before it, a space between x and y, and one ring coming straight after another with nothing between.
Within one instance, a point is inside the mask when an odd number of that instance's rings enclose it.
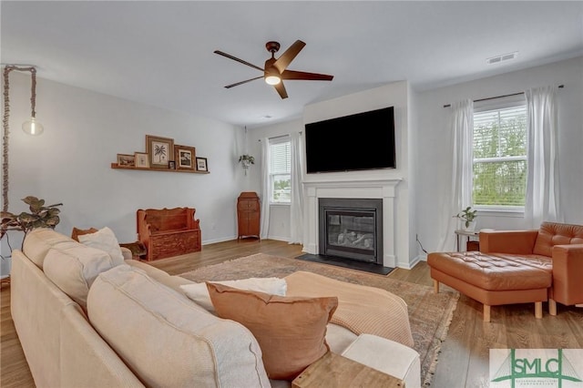
<instances>
[{"instance_id":1,"label":"carved reddish-brown wooden storage bench below the picture shelf","mask_svg":"<svg viewBox=\"0 0 583 388\"><path fill-rule=\"evenodd\" d=\"M201 250L196 209L138 209L138 240L146 246L146 260L158 260Z\"/></svg>"}]
</instances>

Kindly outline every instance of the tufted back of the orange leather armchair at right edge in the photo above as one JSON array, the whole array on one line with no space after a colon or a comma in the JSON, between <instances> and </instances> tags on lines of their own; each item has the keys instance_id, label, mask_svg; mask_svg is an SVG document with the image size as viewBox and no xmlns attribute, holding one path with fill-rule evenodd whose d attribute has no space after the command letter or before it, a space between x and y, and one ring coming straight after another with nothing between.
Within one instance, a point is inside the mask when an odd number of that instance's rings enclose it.
<instances>
[{"instance_id":1,"label":"tufted back of the orange leather armchair at right edge","mask_svg":"<svg viewBox=\"0 0 583 388\"><path fill-rule=\"evenodd\" d=\"M583 226L543 222L538 230L533 253L551 257L555 245L583 244Z\"/></svg>"}]
</instances>

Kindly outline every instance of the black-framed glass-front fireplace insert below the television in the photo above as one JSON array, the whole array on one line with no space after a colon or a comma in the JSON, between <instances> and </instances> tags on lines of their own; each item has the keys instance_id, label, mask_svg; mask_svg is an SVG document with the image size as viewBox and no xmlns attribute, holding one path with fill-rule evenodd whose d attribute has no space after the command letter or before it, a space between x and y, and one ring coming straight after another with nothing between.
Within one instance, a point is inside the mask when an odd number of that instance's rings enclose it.
<instances>
[{"instance_id":1,"label":"black-framed glass-front fireplace insert below the television","mask_svg":"<svg viewBox=\"0 0 583 388\"><path fill-rule=\"evenodd\" d=\"M319 253L383 265L383 199L318 199Z\"/></svg>"}]
</instances>

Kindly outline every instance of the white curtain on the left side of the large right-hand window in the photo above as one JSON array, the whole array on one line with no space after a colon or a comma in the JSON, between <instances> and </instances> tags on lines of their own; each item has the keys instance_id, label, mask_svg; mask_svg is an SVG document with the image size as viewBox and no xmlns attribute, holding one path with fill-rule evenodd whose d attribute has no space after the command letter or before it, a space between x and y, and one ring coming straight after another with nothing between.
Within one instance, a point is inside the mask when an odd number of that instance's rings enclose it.
<instances>
[{"instance_id":1,"label":"white curtain on the left side of the large right-hand window","mask_svg":"<svg viewBox=\"0 0 583 388\"><path fill-rule=\"evenodd\" d=\"M452 104L452 188L451 200L442 208L442 238L438 251L455 250L455 214L472 206L474 102L470 99Z\"/></svg>"}]
</instances>

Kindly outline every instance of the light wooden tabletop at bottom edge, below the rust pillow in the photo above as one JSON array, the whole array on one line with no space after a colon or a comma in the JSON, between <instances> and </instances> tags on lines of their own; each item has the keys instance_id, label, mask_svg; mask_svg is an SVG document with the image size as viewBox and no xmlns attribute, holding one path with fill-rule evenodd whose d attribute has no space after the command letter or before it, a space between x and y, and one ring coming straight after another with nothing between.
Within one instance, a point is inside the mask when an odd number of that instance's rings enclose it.
<instances>
[{"instance_id":1,"label":"light wooden tabletop at bottom edge, below the rust pillow","mask_svg":"<svg viewBox=\"0 0 583 388\"><path fill-rule=\"evenodd\" d=\"M292 388L403 388L403 380L363 363L327 352L292 381Z\"/></svg>"}]
</instances>

